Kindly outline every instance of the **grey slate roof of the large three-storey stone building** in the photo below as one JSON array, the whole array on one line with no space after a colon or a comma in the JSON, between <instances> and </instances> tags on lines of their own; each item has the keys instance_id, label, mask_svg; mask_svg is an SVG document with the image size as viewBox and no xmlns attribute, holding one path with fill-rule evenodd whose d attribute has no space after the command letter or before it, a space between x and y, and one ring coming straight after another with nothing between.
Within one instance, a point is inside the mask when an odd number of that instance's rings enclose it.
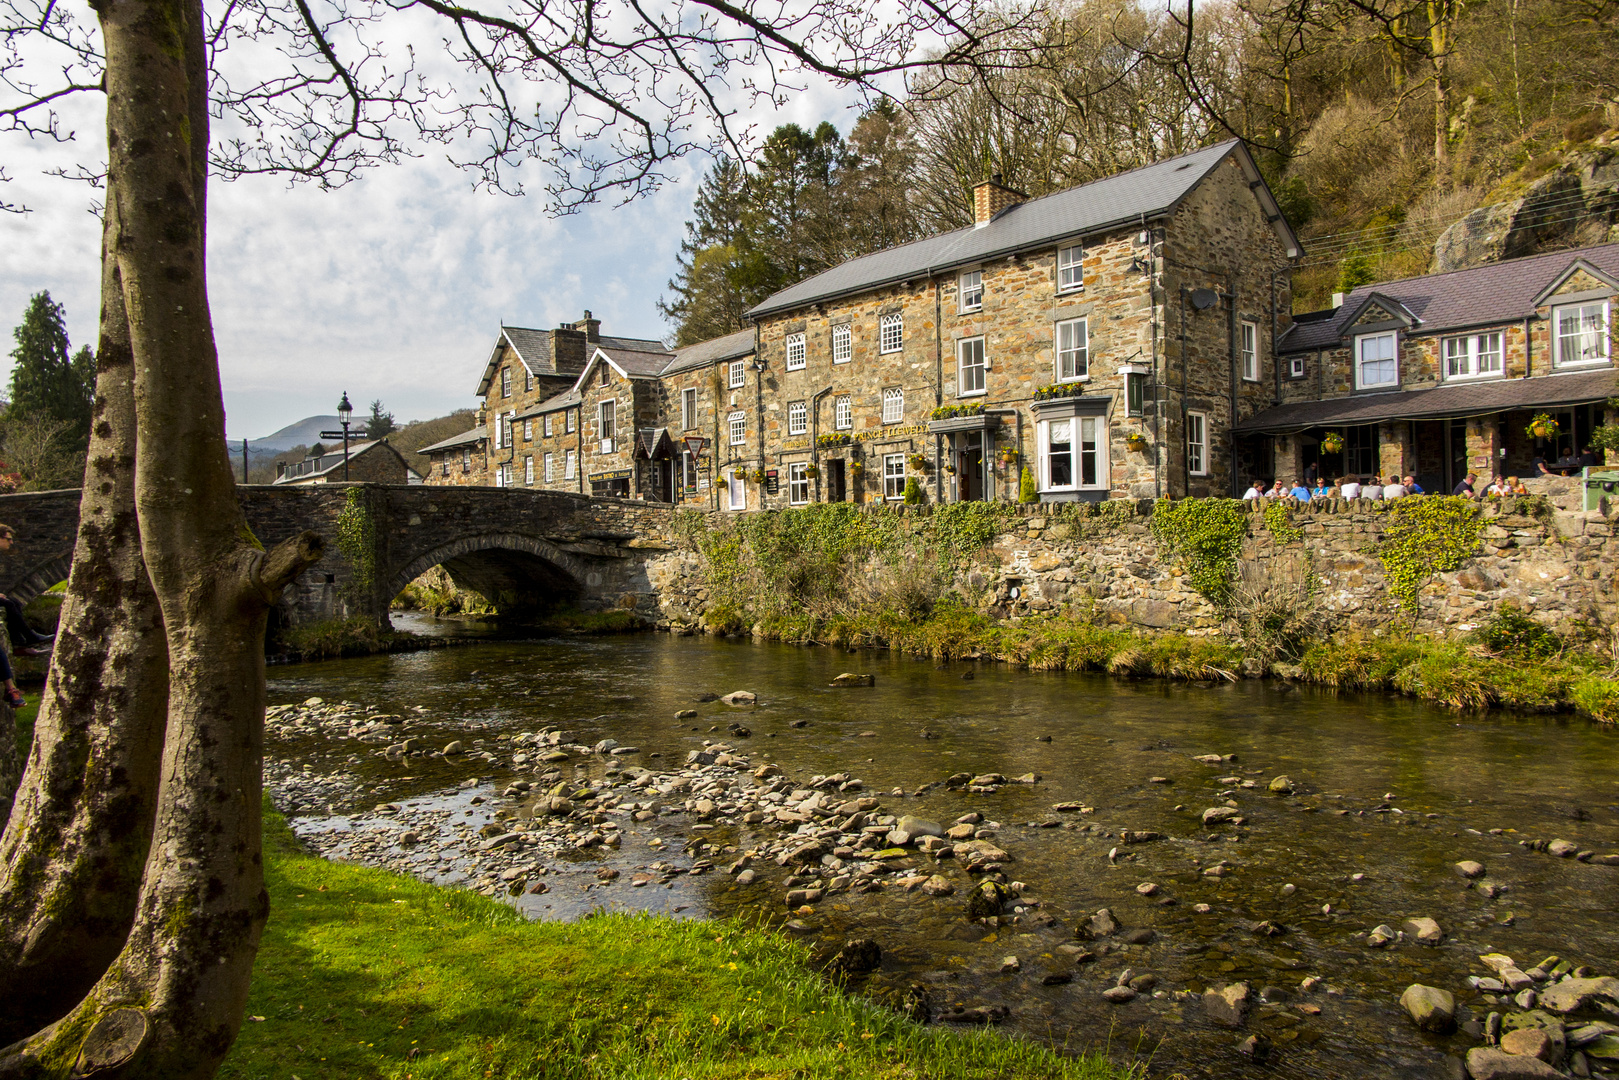
<instances>
[{"instance_id":1,"label":"grey slate roof of the large three-storey stone building","mask_svg":"<svg viewBox=\"0 0 1619 1080\"><path fill-rule=\"evenodd\" d=\"M983 227L958 228L915 243L887 248L842 262L764 300L748 314L759 316L800 308L845 293L861 293L933 270L981 262L1039 248L1059 240L1101 233L1130 222L1151 220L1172 210L1227 157L1235 155L1289 256L1303 254L1298 238L1281 215L1242 139L1227 139L1192 154L1132 168L1125 173L1018 202Z\"/></svg>"}]
</instances>

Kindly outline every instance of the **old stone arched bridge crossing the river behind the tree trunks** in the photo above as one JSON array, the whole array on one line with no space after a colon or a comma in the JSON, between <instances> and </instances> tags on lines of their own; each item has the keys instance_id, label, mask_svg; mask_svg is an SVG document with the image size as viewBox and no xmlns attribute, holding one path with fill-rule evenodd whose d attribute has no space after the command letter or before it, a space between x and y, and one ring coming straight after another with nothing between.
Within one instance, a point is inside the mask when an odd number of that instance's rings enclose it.
<instances>
[{"instance_id":1,"label":"old stone arched bridge crossing the river behind the tree trunks","mask_svg":"<svg viewBox=\"0 0 1619 1080\"><path fill-rule=\"evenodd\" d=\"M484 596L581 609L625 607L654 617L648 560L674 546L670 507L520 487L311 484L236 489L266 547L303 529L325 538L325 559L282 596L290 625L387 619L410 581L442 565ZM28 604L68 576L79 492L0 495L16 529L0 555L0 593Z\"/></svg>"}]
</instances>

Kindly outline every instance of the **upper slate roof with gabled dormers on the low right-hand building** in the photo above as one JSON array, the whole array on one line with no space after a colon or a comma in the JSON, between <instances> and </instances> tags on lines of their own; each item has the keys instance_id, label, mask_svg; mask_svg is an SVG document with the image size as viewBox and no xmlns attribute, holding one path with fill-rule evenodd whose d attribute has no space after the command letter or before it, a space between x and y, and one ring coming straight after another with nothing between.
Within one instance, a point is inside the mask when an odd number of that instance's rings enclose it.
<instances>
[{"instance_id":1,"label":"upper slate roof with gabled dormers on the low right-hand building","mask_svg":"<svg viewBox=\"0 0 1619 1080\"><path fill-rule=\"evenodd\" d=\"M1619 274L1619 243L1362 285L1345 296L1336 311L1300 316L1282 334L1276 351L1303 353L1337 347L1371 293L1383 293L1399 301L1417 316L1420 321L1417 330L1423 334L1520 322L1535 314L1535 298L1575 259L1585 259L1604 274Z\"/></svg>"}]
</instances>

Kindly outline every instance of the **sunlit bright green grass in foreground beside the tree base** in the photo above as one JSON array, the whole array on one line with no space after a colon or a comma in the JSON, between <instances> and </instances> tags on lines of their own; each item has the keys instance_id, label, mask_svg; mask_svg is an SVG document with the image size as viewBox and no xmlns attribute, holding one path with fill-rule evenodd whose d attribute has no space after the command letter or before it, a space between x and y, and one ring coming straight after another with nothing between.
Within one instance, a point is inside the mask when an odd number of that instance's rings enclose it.
<instances>
[{"instance_id":1,"label":"sunlit bright green grass in foreground beside the tree base","mask_svg":"<svg viewBox=\"0 0 1619 1080\"><path fill-rule=\"evenodd\" d=\"M822 981L782 936L602 915L529 923L301 853L266 808L264 931L222 1078L1119 1080L999 1031L929 1028Z\"/></svg>"}]
</instances>

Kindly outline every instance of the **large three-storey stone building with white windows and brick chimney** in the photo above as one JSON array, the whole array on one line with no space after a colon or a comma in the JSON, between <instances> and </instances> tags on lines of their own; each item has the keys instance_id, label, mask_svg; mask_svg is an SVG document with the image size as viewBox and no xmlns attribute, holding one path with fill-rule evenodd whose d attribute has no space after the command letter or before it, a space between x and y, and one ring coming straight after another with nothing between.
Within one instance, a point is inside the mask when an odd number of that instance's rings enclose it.
<instances>
[{"instance_id":1,"label":"large three-storey stone building with white windows and brick chimney","mask_svg":"<svg viewBox=\"0 0 1619 1080\"><path fill-rule=\"evenodd\" d=\"M1230 494L1239 416L1273 405L1300 246L1240 141L1026 199L758 304L720 478L746 508ZM751 376L751 377L750 377ZM1268 463L1266 463L1268 465Z\"/></svg>"}]
</instances>

